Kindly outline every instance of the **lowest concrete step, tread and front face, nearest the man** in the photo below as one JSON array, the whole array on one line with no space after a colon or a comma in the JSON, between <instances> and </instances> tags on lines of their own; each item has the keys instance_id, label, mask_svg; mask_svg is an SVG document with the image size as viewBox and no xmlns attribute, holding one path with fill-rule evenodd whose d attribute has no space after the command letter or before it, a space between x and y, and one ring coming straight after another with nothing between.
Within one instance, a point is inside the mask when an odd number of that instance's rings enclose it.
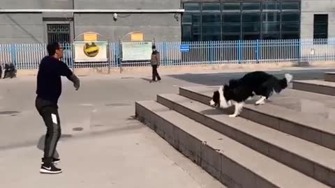
<instances>
[{"instance_id":1,"label":"lowest concrete step, tread and front face, nearest the man","mask_svg":"<svg viewBox=\"0 0 335 188\"><path fill-rule=\"evenodd\" d=\"M136 102L135 114L227 187L327 187L157 102Z\"/></svg>"}]
</instances>

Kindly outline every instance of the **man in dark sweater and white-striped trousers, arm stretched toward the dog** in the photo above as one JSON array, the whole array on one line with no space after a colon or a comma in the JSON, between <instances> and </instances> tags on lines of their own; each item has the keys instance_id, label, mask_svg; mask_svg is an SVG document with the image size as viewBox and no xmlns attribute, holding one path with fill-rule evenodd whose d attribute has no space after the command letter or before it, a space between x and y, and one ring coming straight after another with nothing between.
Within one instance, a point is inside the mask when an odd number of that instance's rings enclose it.
<instances>
[{"instance_id":1,"label":"man in dark sweater and white-striped trousers, arm stretched toward the dog","mask_svg":"<svg viewBox=\"0 0 335 188\"><path fill-rule=\"evenodd\" d=\"M40 173L61 173L54 166L60 159L54 158L54 152L61 136L61 122L58 113L58 100L61 95L61 76L73 82L76 90L80 88L80 80L59 59L63 56L63 48L58 43L47 45L48 56L45 56L38 68L36 88L36 109L47 127L45 135L44 156Z\"/></svg>"}]
</instances>

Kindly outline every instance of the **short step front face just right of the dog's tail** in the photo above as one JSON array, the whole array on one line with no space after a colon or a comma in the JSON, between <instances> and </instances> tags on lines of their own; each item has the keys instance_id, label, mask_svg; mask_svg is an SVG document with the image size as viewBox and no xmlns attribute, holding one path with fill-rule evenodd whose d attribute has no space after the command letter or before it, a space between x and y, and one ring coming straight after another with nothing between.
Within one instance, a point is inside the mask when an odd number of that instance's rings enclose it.
<instances>
[{"instance_id":1,"label":"short step front face just right of the dog's tail","mask_svg":"<svg viewBox=\"0 0 335 188\"><path fill-rule=\"evenodd\" d=\"M293 81L293 89L301 90L301 91L308 91L312 93L320 93L323 95L332 95L335 96L335 88L334 87L327 87L327 86L318 86L315 84L306 84Z\"/></svg>"}]
</instances>

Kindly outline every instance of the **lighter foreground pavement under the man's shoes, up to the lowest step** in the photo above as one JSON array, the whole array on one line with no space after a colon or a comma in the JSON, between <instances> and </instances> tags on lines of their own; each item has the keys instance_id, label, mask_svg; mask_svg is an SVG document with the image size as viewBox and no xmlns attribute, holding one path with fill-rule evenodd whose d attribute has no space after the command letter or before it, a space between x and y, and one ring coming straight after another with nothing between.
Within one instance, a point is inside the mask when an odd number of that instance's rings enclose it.
<instances>
[{"instance_id":1,"label":"lighter foreground pavement under the man's shoes, up to the lowest step","mask_svg":"<svg viewBox=\"0 0 335 188\"><path fill-rule=\"evenodd\" d=\"M59 175L38 172L43 152L34 146L1 151L1 187L223 187L140 123L58 148Z\"/></svg>"}]
</instances>

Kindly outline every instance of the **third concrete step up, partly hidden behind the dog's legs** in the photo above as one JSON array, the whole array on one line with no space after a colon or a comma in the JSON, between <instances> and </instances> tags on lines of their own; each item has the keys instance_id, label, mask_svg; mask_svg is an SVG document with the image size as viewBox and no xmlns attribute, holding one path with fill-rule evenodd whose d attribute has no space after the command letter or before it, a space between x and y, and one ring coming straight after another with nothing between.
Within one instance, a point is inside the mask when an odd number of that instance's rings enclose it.
<instances>
[{"instance_id":1,"label":"third concrete step up, partly hidden behind the dog's legs","mask_svg":"<svg viewBox=\"0 0 335 188\"><path fill-rule=\"evenodd\" d=\"M179 88L179 94L209 105L211 95L213 95L213 91L217 89L218 86L181 87ZM290 89L288 89L288 91L283 91L283 95L285 95L285 93L286 96L295 95L295 97L304 97L309 100L318 98L318 100L333 101L332 96L329 95L320 95ZM278 95L278 97L281 97L281 95L282 94ZM285 102L285 100L287 101L288 98L283 97L278 100L278 103ZM273 101L273 103L276 103L276 99ZM322 116L313 116L308 113L295 111L294 109L279 107L278 105L272 105L271 103L262 106L255 106L253 104L254 102L251 103L252 104L246 104L244 106L240 115L241 117L335 150L334 121L327 120ZM232 113L234 107L227 109L226 111Z\"/></svg>"}]
</instances>

